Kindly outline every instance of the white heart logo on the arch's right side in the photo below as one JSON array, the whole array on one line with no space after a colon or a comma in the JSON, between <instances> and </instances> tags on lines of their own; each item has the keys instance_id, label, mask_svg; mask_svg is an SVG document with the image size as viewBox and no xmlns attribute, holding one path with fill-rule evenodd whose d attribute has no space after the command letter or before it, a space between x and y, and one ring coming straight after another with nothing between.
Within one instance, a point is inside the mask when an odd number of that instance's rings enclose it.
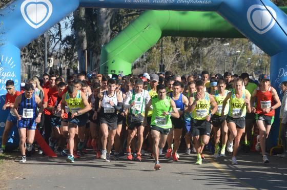
<instances>
[{"instance_id":1,"label":"white heart logo on the arch's right side","mask_svg":"<svg viewBox=\"0 0 287 190\"><path fill-rule=\"evenodd\" d=\"M276 22L277 14L269 6L252 5L247 11L247 20L251 28L259 34L271 30Z\"/></svg>"}]
</instances>

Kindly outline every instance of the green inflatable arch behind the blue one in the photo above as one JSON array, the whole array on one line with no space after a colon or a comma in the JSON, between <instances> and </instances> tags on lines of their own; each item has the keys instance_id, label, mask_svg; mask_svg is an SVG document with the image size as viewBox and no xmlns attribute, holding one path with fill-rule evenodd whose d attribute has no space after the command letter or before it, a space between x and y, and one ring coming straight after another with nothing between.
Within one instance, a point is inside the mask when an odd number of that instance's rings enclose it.
<instances>
[{"instance_id":1,"label":"green inflatable arch behind the blue one","mask_svg":"<svg viewBox=\"0 0 287 190\"><path fill-rule=\"evenodd\" d=\"M100 73L130 74L132 63L163 36L245 38L216 12L149 10L102 48Z\"/></svg>"}]
</instances>

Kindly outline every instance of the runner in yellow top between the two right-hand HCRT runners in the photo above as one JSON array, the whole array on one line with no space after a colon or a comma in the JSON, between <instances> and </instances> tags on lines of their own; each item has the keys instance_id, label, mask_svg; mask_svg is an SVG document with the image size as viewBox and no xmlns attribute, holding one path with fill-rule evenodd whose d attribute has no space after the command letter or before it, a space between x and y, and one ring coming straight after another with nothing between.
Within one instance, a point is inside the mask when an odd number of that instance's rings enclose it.
<instances>
[{"instance_id":1,"label":"runner in yellow top between the two right-hand HCRT runners","mask_svg":"<svg viewBox=\"0 0 287 190\"><path fill-rule=\"evenodd\" d=\"M215 144L215 152L214 152L214 158L218 158L220 156L225 157L225 148L226 148L226 143L228 139L228 126L226 122L226 118L228 115L229 111L229 102L227 102L226 107L224 108L224 116L221 117L221 111L222 111L222 104L223 100L226 98L228 95L229 91L225 90L226 89L226 81L223 79L219 79L217 81L217 89L214 93L214 99L217 103L217 111L216 113L212 116L211 121L213 125L213 133L214 133L214 144ZM220 131L221 128L221 131ZM220 134L222 134L222 141L221 141L221 151L220 154L218 153L220 147L219 147L219 141L220 141Z\"/></svg>"}]
</instances>

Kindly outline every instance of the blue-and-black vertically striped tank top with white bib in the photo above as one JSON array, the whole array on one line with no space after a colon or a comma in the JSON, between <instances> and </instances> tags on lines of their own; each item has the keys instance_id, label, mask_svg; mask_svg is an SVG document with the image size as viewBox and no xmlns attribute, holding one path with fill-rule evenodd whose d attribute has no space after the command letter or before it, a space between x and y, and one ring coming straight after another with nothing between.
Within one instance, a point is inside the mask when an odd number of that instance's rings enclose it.
<instances>
[{"instance_id":1,"label":"blue-and-black vertically striped tank top with white bib","mask_svg":"<svg viewBox=\"0 0 287 190\"><path fill-rule=\"evenodd\" d=\"M35 94L32 94L30 99L25 97L25 94L22 94L22 99L19 104L19 115L22 115L23 121L32 121L36 119L36 110L37 110L37 103L35 100ZM29 122L27 122L29 123Z\"/></svg>"}]
</instances>

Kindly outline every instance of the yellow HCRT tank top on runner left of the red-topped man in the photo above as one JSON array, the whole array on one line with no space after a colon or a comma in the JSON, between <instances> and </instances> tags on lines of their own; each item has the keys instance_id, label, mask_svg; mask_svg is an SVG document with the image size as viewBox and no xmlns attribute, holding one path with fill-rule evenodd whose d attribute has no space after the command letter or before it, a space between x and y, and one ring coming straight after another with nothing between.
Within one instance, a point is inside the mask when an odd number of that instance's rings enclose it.
<instances>
[{"instance_id":1,"label":"yellow HCRT tank top on runner left of the red-topped man","mask_svg":"<svg viewBox=\"0 0 287 190\"><path fill-rule=\"evenodd\" d=\"M245 106L245 94L247 90L242 90L241 98L236 98L235 90L231 91L231 98L229 101L229 113L228 115L233 118L245 117L246 106Z\"/></svg>"}]
</instances>

